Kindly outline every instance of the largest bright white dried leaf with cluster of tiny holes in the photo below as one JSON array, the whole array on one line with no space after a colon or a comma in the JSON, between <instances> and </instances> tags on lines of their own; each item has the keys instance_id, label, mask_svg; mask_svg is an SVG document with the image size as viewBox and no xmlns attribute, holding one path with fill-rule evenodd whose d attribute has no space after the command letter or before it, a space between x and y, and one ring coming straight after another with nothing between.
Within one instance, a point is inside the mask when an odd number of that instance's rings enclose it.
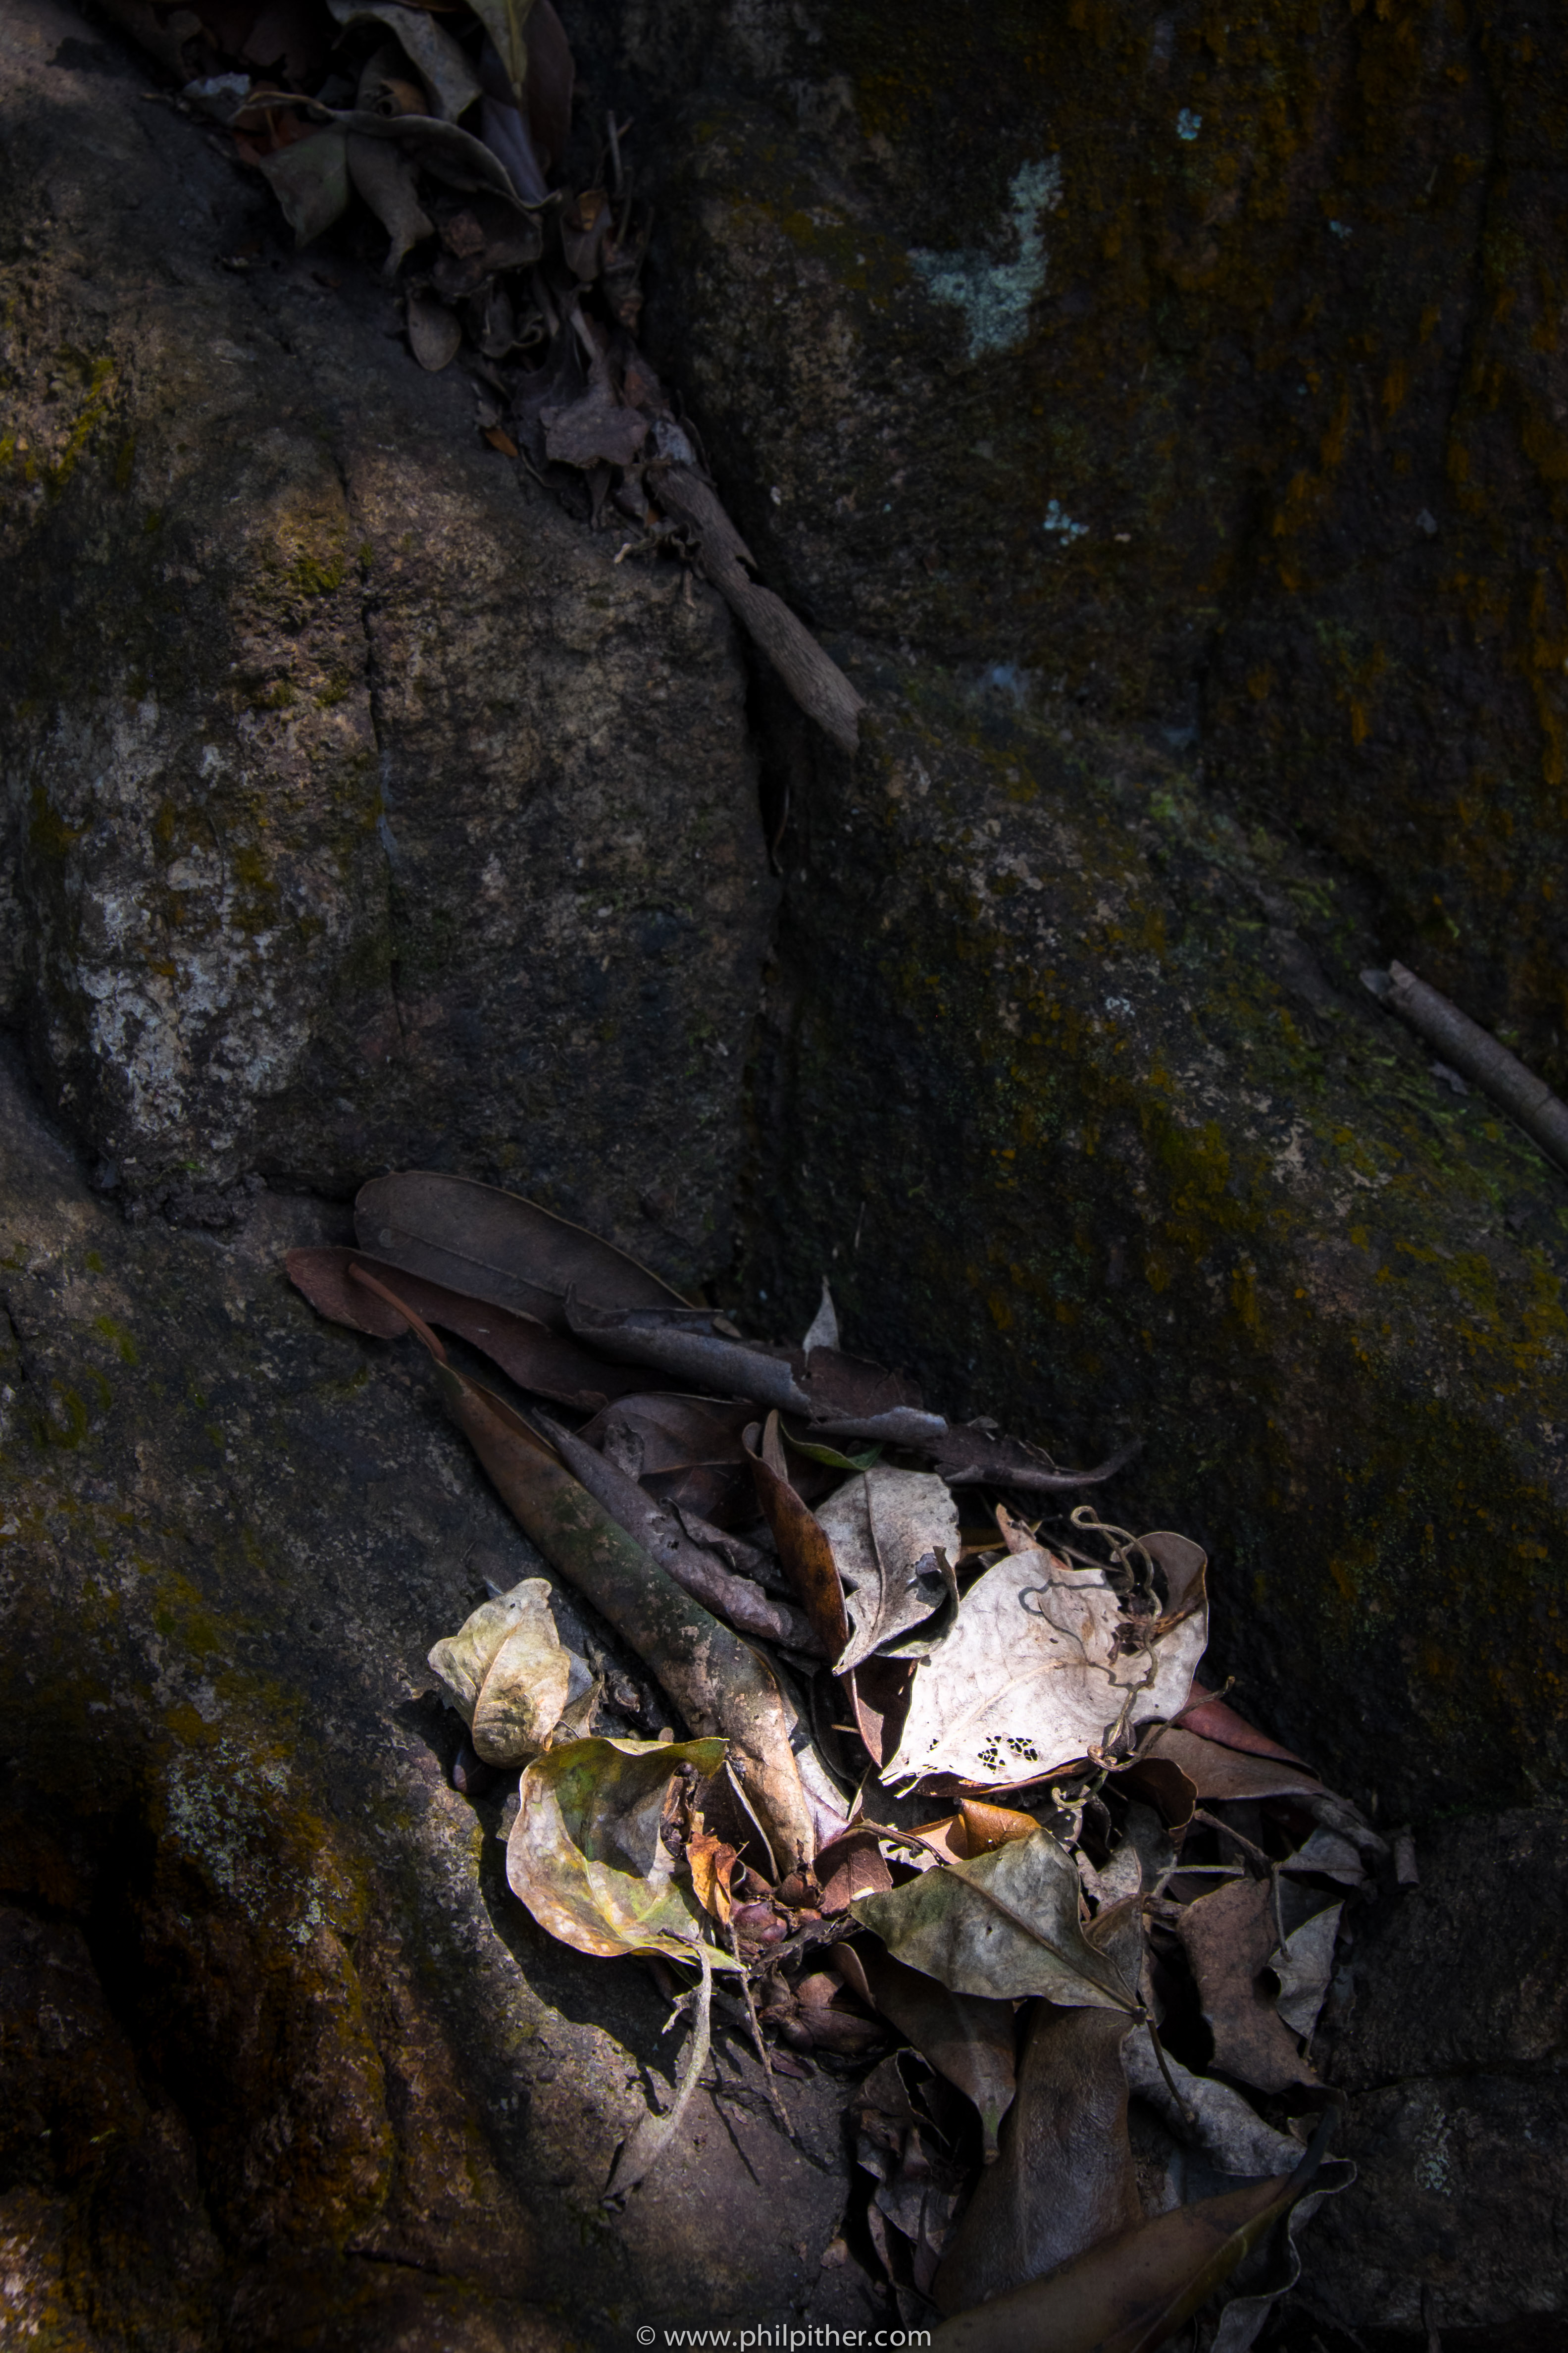
<instances>
[{"instance_id":1,"label":"largest bright white dried leaf with cluster of tiny holes","mask_svg":"<svg viewBox=\"0 0 1568 2353\"><path fill-rule=\"evenodd\" d=\"M987 1569L940 1652L919 1668L882 1779L954 1772L992 1786L1037 1781L1103 1753L1145 1718L1171 1715L1208 1640L1204 1553L1185 1537L1143 1541L1168 1579L1168 1607L1152 1631L1126 1617L1103 1569L1072 1569L1041 1548Z\"/></svg>"}]
</instances>

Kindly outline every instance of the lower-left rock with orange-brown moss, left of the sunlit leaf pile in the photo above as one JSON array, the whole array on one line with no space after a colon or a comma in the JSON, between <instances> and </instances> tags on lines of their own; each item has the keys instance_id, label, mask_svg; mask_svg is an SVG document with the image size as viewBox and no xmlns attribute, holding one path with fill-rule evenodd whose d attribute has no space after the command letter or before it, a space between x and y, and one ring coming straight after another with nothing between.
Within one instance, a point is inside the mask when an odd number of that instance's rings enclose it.
<instances>
[{"instance_id":1,"label":"lower-left rock with orange-brown moss, left of the sunlit leaf pile","mask_svg":"<svg viewBox=\"0 0 1568 2353\"><path fill-rule=\"evenodd\" d=\"M792 2087L788 2144L743 2028L628 2214L599 2205L668 2097L665 2002L536 1929L501 1788L449 1786L425 1649L541 1562L407 1348L287 1287L280 1252L339 1224L266 1193L223 1240L127 1226L0 1071L0 2334L870 2322L818 2268L842 2087Z\"/></svg>"}]
</instances>

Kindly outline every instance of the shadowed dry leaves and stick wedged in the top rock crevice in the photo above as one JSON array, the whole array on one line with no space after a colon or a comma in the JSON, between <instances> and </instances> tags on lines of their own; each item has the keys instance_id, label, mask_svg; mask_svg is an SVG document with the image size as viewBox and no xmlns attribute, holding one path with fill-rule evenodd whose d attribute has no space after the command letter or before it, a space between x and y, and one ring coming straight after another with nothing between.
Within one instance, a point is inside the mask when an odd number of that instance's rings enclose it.
<instances>
[{"instance_id":1,"label":"shadowed dry leaves and stick wedged in the top rock crevice","mask_svg":"<svg viewBox=\"0 0 1568 2353\"><path fill-rule=\"evenodd\" d=\"M296 242L362 207L404 287L409 348L463 360L480 431L592 520L621 555L696 562L835 744L860 696L764 588L637 344L649 207L607 115L588 174L559 184L574 66L550 0L103 0L228 127ZM585 176L585 186L578 181Z\"/></svg>"}]
</instances>

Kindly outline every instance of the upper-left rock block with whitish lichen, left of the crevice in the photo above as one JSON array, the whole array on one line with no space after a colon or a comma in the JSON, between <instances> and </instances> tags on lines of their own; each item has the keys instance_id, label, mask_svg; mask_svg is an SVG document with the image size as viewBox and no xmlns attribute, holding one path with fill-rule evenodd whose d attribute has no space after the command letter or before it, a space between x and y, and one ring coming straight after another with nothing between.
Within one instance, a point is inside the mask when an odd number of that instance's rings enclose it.
<instances>
[{"instance_id":1,"label":"upper-left rock block with whitish lichen, left of the crevice","mask_svg":"<svg viewBox=\"0 0 1568 2353\"><path fill-rule=\"evenodd\" d=\"M141 66L5 42L5 1019L129 1195L433 1162L715 1268L771 894L724 607Z\"/></svg>"}]
</instances>

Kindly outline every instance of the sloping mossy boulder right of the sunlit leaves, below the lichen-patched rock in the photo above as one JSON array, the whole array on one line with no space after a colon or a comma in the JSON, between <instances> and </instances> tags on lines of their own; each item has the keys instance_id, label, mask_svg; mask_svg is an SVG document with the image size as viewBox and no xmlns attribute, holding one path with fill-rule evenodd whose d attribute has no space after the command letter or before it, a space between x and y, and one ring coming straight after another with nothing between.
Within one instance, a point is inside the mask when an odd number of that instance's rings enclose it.
<instances>
[{"instance_id":1,"label":"sloping mossy boulder right of the sunlit leaves, below the lichen-patched rock","mask_svg":"<svg viewBox=\"0 0 1568 2353\"><path fill-rule=\"evenodd\" d=\"M1382 1819L1561 1791L1561 1172L1361 988L1288 835L1119 732L853 675L853 769L788 769L748 1315L825 1271L933 1402L1140 1438L1093 1501L1211 1548L1215 1664Z\"/></svg>"}]
</instances>

